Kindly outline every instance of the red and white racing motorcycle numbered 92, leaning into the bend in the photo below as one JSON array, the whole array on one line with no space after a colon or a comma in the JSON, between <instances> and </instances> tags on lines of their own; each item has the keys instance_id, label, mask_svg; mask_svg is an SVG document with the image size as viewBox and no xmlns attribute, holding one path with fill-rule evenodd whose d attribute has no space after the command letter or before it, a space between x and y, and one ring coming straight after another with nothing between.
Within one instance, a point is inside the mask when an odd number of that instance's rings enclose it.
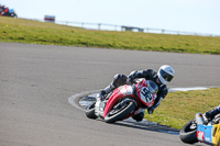
<instances>
[{"instance_id":1,"label":"red and white racing motorcycle numbered 92, leaning into the bend","mask_svg":"<svg viewBox=\"0 0 220 146\"><path fill-rule=\"evenodd\" d=\"M89 119L102 119L106 123L114 123L131 117L140 111L143 105L151 108L156 99L158 87L151 80L138 80L124 85L110 92L105 100L100 97L86 109Z\"/></svg>"}]
</instances>

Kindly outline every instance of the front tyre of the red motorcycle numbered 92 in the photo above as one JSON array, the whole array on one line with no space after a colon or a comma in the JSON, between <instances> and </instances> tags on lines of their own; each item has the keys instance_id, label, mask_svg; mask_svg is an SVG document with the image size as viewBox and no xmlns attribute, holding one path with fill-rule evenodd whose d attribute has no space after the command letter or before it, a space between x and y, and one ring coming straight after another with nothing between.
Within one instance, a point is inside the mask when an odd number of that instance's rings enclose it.
<instances>
[{"instance_id":1,"label":"front tyre of the red motorcycle numbered 92","mask_svg":"<svg viewBox=\"0 0 220 146\"><path fill-rule=\"evenodd\" d=\"M134 102L129 102L121 109L112 109L109 114L106 115L106 123L114 123L117 121L125 119L129 114L131 114L135 110L136 105Z\"/></svg>"}]
</instances>

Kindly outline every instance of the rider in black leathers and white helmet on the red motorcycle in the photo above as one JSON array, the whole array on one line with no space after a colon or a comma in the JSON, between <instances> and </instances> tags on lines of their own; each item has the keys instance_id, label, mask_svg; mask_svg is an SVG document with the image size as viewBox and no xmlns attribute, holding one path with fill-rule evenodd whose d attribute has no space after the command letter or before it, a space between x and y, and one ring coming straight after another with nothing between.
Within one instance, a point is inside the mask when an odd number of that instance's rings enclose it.
<instances>
[{"instance_id":1,"label":"rider in black leathers and white helmet on the red motorcycle","mask_svg":"<svg viewBox=\"0 0 220 146\"><path fill-rule=\"evenodd\" d=\"M117 74L114 76L113 81L105 89L100 91L101 99L106 98L108 93L113 91L116 88L123 86L125 83L131 82L134 79L138 78L145 78L146 80L153 80L158 86L158 92L157 98L154 102L154 105L147 109L148 114L152 114L154 110L160 105L161 101L166 97L168 89L166 87L166 83L170 82L174 77L174 69L173 67L168 65L163 65L158 72L146 69L146 70L140 70L140 71L132 71L129 77L125 75L119 75ZM142 121L144 117L145 108L140 109L139 112L135 113L133 116L136 121Z\"/></svg>"}]
</instances>

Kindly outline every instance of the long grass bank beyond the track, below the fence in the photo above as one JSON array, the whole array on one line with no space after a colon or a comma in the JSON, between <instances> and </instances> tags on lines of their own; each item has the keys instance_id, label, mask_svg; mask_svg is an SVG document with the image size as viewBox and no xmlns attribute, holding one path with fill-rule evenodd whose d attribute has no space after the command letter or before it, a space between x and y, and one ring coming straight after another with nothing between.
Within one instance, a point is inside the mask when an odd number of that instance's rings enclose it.
<instances>
[{"instance_id":1,"label":"long grass bank beyond the track, below the fence","mask_svg":"<svg viewBox=\"0 0 220 146\"><path fill-rule=\"evenodd\" d=\"M220 54L220 37L91 31L0 16L0 42Z\"/></svg>"}]
</instances>

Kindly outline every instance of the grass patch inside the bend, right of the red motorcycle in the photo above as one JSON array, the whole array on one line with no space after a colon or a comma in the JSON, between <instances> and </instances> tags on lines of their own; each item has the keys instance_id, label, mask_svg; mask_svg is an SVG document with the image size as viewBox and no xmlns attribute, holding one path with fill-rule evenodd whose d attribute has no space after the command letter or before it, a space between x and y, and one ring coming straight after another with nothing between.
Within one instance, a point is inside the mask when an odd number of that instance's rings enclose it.
<instances>
[{"instance_id":1,"label":"grass patch inside the bend, right of the red motorcycle","mask_svg":"<svg viewBox=\"0 0 220 146\"><path fill-rule=\"evenodd\" d=\"M196 113L205 113L220 104L220 89L169 92L153 114L145 119L182 128Z\"/></svg>"}]
</instances>

